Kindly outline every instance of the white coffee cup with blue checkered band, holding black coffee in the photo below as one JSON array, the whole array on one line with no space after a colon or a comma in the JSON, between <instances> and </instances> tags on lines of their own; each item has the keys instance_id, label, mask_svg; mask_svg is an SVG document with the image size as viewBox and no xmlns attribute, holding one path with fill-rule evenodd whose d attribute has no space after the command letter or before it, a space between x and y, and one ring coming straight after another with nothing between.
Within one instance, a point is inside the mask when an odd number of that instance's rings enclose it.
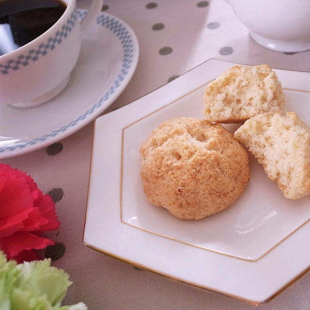
<instances>
[{"instance_id":1,"label":"white coffee cup with blue checkered band, holding black coffee","mask_svg":"<svg viewBox=\"0 0 310 310\"><path fill-rule=\"evenodd\" d=\"M81 23L76 0L63 2L67 8L51 28L0 56L0 104L36 106L55 97L67 85L78 60L82 36L99 15L102 0L92 0Z\"/></svg>"}]
</instances>

